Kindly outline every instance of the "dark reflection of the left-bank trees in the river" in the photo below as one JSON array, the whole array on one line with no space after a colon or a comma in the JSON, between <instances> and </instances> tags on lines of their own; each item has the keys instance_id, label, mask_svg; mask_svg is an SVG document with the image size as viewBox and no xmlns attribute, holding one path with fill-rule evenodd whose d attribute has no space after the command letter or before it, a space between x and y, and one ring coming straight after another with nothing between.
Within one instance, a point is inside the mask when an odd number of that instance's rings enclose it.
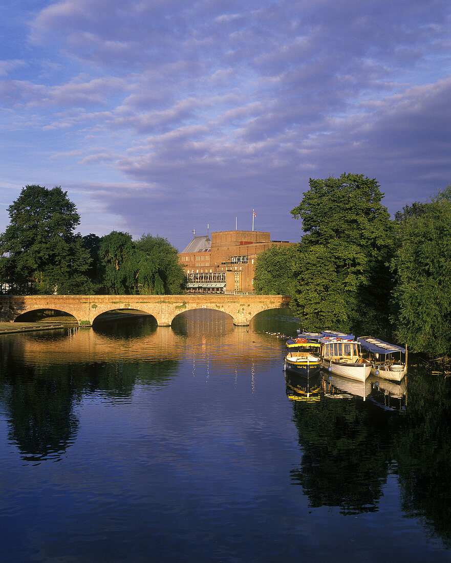
<instances>
[{"instance_id":1,"label":"dark reflection of the left-bank trees in the river","mask_svg":"<svg viewBox=\"0 0 451 563\"><path fill-rule=\"evenodd\" d=\"M136 339L145 336L130 325L122 327L122 332L125 335L118 337L111 352L122 354L121 341L133 335ZM30 343L32 349L39 345L37 334L0 339L0 400L10 415L9 437L27 461L55 457L73 443L79 424L74 403L83 396L102 391L111 400L130 397L138 379L144 385L163 385L177 370L178 361L164 356L153 360L131 356L127 361L122 355L117 361L114 357L86 361L84 356L78 359L75 355L64 361L62 348L66 356L70 355L70 338L68 332L64 334L65 343L61 345L61 335L52 337L53 350L47 341L46 358L34 363L27 358ZM113 337L113 329L110 334Z\"/></svg>"}]
</instances>

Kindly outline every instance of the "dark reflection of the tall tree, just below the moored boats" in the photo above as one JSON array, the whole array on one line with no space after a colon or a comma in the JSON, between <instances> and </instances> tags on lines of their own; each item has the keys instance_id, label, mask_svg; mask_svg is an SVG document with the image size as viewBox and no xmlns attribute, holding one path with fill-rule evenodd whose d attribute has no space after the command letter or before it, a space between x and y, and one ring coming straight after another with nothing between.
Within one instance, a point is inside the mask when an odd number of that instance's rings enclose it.
<instances>
[{"instance_id":1,"label":"dark reflection of the tall tree, just below the moored boats","mask_svg":"<svg viewBox=\"0 0 451 563\"><path fill-rule=\"evenodd\" d=\"M324 397L323 397L324 398ZM377 511L391 457L389 418L353 400L293 404L303 456L292 470L312 507Z\"/></svg>"}]
</instances>

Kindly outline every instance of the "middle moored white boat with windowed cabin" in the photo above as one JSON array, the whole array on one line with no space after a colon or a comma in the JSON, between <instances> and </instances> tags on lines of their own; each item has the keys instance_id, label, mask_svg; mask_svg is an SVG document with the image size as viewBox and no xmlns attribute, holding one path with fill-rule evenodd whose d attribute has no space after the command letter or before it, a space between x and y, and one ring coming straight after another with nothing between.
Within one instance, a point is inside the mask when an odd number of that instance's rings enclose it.
<instances>
[{"instance_id":1,"label":"middle moored white boat with windowed cabin","mask_svg":"<svg viewBox=\"0 0 451 563\"><path fill-rule=\"evenodd\" d=\"M321 344L321 365L337 376L348 377L356 381L365 381L371 372L371 364L363 358L360 343L353 334L327 336L331 331L324 331Z\"/></svg>"}]
</instances>

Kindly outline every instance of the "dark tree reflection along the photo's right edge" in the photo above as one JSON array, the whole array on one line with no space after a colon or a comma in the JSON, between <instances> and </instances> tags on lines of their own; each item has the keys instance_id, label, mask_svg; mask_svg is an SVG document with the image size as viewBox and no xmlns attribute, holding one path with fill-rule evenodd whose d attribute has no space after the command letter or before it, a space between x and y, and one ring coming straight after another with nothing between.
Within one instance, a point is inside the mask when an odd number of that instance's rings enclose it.
<instances>
[{"instance_id":1,"label":"dark tree reflection along the photo's right edge","mask_svg":"<svg viewBox=\"0 0 451 563\"><path fill-rule=\"evenodd\" d=\"M451 379L421 368L409 374L409 399L398 466L409 517L451 547Z\"/></svg>"}]
</instances>

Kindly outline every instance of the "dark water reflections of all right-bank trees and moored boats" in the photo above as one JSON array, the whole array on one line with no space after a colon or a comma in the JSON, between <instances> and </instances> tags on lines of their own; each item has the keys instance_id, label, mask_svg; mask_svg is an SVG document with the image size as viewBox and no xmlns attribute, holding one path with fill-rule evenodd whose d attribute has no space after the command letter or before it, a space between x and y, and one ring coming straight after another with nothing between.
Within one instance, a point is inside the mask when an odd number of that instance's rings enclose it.
<instances>
[{"instance_id":1,"label":"dark water reflections of all right-bank trees and moored boats","mask_svg":"<svg viewBox=\"0 0 451 563\"><path fill-rule=\"evenodd\" d=\"M291 476L310 506L377 512L388 477L398 475L405 515L451 547L451 378L410 369L407 401L407 376L321 377L319 401L292 404L302 459Z\"/></svg>"}]
</instances>

